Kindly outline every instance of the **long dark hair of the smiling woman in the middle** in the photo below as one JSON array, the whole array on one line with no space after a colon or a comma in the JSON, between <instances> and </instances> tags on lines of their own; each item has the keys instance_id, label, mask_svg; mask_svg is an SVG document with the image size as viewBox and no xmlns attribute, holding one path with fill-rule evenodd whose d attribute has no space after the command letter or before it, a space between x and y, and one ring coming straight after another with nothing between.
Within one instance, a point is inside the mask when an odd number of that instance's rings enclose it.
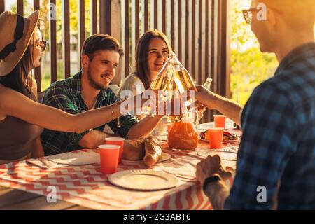
<instances>
[{"instance_id":1,"label":"long dark hair of the smiling woman in the middle","mask_svg":"<svg viewBox=\"0 0 315 224\"><path fill-rule=\"evenodd\" d=\"M148 47L150 45L151 40L154 38L161 38L165 41L169 52L172 52L172 47L169 44L169 40L167 36L158 30L146 31L144 35L138 41L136 48L136 62L135 62L135 70L134 73L140 78L142 83L144 83L144 88L148 90L150 87L150 71L148 69Z\"/></svg>"}]
</instances>

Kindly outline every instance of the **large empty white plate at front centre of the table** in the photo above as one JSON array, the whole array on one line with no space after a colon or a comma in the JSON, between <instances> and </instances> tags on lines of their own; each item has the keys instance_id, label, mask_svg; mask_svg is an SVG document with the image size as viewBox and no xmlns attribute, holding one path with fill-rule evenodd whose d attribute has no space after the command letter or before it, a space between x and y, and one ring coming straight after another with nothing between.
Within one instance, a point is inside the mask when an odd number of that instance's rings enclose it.
<instances>
[{"instance_id":1,"label":"large empty white plate at front centre of the table","mask_svg":"<svg viewBox=\"0 0 315 224\"><path fill-rule=\"evenodd\" d=\"M165 190L179 183L175 176L146 169L125 170L109 176L113 185L132 190Z\"/></svg>"}]
</instances>

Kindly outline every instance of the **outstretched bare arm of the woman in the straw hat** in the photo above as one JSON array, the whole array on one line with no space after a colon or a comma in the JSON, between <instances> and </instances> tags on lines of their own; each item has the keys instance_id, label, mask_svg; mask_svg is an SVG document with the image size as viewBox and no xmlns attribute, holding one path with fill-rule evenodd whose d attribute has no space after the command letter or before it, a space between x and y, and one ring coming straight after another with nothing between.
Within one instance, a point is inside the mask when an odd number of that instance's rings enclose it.
<instances>
[{"instance_id":1,"label":"outstretched bare arm of the woman in the straw hat","mask_svg":"<svg viewBox=\"0 0 315 224\"><path fill-rule=\"evenodd\" d=\"M62 110L34 102L20 94L20 92L6 87L0 88L0 98L1 115L20 118L28 123L59 132L81 133L90 128L109 123L113 118L122 116L122 113L120 113L121 102L71 115ZM127 100L133 102L134 98ZM134 104L134 106L136 105ZM130 108L130 111L132 109L134 108Z\"/></svg>"}]
</instances>

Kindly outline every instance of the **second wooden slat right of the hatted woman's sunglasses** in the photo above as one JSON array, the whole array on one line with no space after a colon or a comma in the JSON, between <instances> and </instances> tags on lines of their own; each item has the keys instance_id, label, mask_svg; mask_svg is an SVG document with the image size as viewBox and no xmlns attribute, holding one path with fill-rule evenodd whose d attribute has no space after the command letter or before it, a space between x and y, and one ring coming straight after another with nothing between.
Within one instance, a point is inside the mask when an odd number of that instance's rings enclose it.
<instances>
[{"instance_id":1,"label":"second wooden slat right of the hatted woman's sunglasses","mask_svg":"<svg viewBox=\"0 0 315 224\"><path fill-rule=\"evenodd\" d=\"M62 62L64 78L70 77L70 3L62 1Z\"/></svg>"}]
</instances>

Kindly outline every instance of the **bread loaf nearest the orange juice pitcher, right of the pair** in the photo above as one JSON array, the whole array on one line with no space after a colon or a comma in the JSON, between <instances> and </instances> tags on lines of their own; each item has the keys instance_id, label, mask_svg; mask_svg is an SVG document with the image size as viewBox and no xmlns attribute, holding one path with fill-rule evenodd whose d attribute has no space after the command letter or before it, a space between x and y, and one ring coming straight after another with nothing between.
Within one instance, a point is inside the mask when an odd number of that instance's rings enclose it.
<instances>
[{"instance_id":1,"label":"bread loaf nearest the orange juice pitcher, right of the pair","mask_svg":"<svg viewBox=\"0 0 315 224\"><path fill-rule=\"evenodd\" d=\"M156 137L148 137L144 141L146 154L144 155L144 164L148 167L155 165L162 158L162 148L160 140Z\"/></svg>"}]
</instances>

